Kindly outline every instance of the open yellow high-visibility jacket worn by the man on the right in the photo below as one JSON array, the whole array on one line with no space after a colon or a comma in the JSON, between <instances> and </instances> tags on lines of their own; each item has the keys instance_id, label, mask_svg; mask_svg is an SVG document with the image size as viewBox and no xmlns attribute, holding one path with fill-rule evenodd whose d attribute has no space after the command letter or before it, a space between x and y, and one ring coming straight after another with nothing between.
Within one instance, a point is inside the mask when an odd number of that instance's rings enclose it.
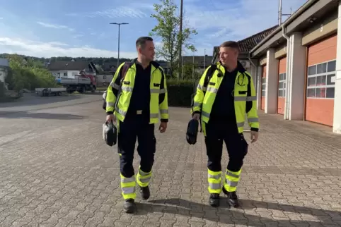
<instances>
[{"instance_id":1,"label":"open yellow high-visibility jacket worn by the man on the right","mask_svg":"<svg viewBox=\"0 0 341 227\"><path fill-rule=\"evenodd\" d=\"M210 67L212 66L209 66L209 68ZM220 62L217 62L216 70L212 73L209 82L205 82L207 79L207 72L210 71L209 68L204 71L204 74L197 85L197 92L191 109L191 114L195 112L201 114L201 120L204 123L209 122L209 115L212 111L216 93L218 92L221 81L225 75L224 66L222 66ZM207 84L207 87L204 87L204 84ZM257 97L255 94L255 87L250 74L241 66L241 63L238 63L238 73L234 85L233 96L238 132L243 133L245 114L248 116L248 123L251 130L258 131L259 121L256 108Z\"/></svg>"}]
</instances>

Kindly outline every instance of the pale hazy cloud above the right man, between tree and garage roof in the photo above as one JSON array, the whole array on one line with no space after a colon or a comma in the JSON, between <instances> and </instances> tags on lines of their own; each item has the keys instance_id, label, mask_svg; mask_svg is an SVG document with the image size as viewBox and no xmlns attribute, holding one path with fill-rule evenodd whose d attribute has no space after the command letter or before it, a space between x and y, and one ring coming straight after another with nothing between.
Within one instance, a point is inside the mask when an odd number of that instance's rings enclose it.
<instances>
[{"instance_id":1,"label":"pale hazy cloud above the right man, between tree and garage roof","mask_svg":"<svg viewBox=\"0 0 341 227\"><path fill-rule=\"evenodd\" d=\"M283 13L290 13L290 7L294 13L305 1L284 1ZM199 34L205 30L216 30L206 35L206 38L214 40L244 39L278 23L278 1L274 0L240 0L234 5L231 1L216 3L212 5L214 9L205 11L195 4L184 8L187 25L195 27Z\"/></svg>"}]
</instances>

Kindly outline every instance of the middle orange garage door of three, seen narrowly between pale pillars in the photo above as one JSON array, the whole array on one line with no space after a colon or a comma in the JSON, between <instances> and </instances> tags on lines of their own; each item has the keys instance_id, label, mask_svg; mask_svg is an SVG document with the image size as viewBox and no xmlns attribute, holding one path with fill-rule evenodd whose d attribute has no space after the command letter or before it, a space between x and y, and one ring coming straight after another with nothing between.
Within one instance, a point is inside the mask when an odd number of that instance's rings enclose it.
<instances>
[{"instance_id":1,"label":"middle orange garage door of three, seen narrowly between pale pillars","mask_svg":"<svg viewBox=\"0 0 341 227\"><path fill-rule=\"evenodd\" d=\"M278 98L277 98L277 114L284 114L286 80L287 78L287 57L278 61Z\"/></svg>"}]
</instances>

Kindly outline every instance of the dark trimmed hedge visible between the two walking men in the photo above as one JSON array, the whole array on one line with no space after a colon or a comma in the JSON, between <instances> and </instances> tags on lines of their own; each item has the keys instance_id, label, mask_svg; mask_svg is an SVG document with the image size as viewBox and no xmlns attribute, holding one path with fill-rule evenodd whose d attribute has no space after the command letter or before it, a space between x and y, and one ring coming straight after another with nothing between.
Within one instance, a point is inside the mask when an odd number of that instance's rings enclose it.
<instances>
[{"instance_id":1,"label":"dark trimmed hedge visible between the two walking men","mask_svg":"<svg viewBox=\"0 0 341 227\"><path fill-rule=\"evenodd\" d=\"M192 80L167 80L168 105L190 107L191 97L195 92Z\"/></svg>"}]
</instances>

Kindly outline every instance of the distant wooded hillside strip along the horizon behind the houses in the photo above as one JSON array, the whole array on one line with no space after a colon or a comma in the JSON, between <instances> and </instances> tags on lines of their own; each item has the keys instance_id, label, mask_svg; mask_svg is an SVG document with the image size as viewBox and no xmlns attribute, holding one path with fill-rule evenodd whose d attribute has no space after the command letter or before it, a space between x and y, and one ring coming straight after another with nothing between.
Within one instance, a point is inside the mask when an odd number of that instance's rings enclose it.
<instances>
[{"instance_id":1,"label":"distant wooded hillside strip along the horizon behind the houses","mask_svg":"<svg viewBox=\"0 0 341 227\"><path fill-rule=\"evenodd\" d=\"M86 58L86 57L78 57L78 58L71 58L68 56L59 56L59 57L52 57L52 58L37 58L34 56L25 56L17 54L18 56L21 56L23 58L32 59L33 61L40 61L42 63L45 62L54 62L54 61L71 61L74 59L74 61L93 61L93 63L98 64L100 66L103 66L104 63L112 63L116 62L116 58ZM8 57L11 56L11 54L0 54L0 58L8 59ZM122 61L132 61L132 59L120 59L120 62ZM158 60L157 60L158 61ZM166 61L158 61L158 63L166 63Z\"/></svg>"}]
</instances>

